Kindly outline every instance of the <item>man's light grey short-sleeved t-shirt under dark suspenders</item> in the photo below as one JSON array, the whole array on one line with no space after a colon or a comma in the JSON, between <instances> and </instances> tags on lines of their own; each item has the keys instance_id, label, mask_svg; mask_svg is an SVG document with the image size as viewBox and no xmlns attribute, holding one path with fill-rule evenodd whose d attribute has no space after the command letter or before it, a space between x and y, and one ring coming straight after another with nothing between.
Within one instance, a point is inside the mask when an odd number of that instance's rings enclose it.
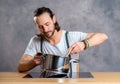
<instances>
[{"instance_id":1,"label":"man's light grey short-sleeved t-shirt under dark suspenders","mask_svg":"<svg viewBox=\"0 0 120 84\"><path fill-rule=\"evenodd\" d=\"M67 43L65 37L65 30L62 30L62 37L58 44L52 45L47 41L43 41L43 53L44 54L54 54L59 56L65 56L67 53ZM68 33L68 43L71 46L75 42L82 41L86 39L87 33L78 31L69 31ZM24 54L35 56L37 52L41 52L41 39L37 36L31 38ZM72 56L73 57L73 56ZM76 57L73 57L76 58Z\"/></svg>"}]
</instances>

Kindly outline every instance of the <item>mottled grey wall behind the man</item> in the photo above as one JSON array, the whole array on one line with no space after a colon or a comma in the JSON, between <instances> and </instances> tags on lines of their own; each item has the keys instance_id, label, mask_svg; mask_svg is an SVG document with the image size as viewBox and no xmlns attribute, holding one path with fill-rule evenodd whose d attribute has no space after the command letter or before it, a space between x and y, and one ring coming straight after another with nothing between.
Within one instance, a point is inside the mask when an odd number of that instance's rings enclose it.
<instances>
[{"instance_id":1,"label":"mottled grey wall behind the man","mask_svg":"<svg viewBox=\"0 0 120 84\"><path fill-rule=\"evenodd\" d=\"M108 35L80 54L81 71L120 71L120 0L0 0L0 71L17 71L36 33L33 11L41 6L54 11L62 29Z\"/></svg>"}]
</instances>

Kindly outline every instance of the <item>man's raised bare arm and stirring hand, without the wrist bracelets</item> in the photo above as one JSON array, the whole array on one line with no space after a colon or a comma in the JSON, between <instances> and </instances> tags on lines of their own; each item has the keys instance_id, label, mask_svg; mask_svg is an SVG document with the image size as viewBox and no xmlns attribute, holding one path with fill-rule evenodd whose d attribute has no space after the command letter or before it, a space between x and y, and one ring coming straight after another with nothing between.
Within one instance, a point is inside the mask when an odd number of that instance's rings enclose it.
<instances>
[{"instance_id":1,"label":"man's raised bare arm and stirring hand, without the wrist bracelets","mask_svg":"<svg viewBox=\"0 0 120 84\"><path fill-rule=\"evenodd\" d=\"M104 33L89 33L87 35L87 39L89 41L90 47L92 47L100 45L106 39L108 39L108 37ZM84 48L85 48L84 42L76 42L72 46L70 46L69 51L71 52L71 54L77 54L83 51Z\"/></svg>"}]
</instances>

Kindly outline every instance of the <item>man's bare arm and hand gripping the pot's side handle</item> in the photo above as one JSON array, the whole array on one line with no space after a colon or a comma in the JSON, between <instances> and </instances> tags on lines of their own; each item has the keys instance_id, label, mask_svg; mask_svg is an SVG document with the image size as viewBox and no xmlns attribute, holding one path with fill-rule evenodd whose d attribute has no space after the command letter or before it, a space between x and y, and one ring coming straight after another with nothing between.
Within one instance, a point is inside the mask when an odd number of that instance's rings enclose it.
<instances>
[{"instance_id":1,"label":"man's bare arm and hand gripping the pot's side handle","mask_svg":"<svg viewBox=\"0 0 120 84\"><path fill-rule=\"evenodd\" d=\"M26 72L40 64L40 56L23 55L18 63L18 71Z\"/></svg>"}]
</instances>

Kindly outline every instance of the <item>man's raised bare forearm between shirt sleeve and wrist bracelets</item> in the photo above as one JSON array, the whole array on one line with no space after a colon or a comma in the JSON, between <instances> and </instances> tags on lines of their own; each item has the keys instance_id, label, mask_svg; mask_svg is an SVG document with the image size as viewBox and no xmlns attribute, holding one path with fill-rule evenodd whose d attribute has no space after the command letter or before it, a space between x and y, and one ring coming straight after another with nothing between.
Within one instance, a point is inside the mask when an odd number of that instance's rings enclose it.
<instances>
[{"instance_id":1,"label":"man's raised bare forearm between shirt sleeve and wrist bracelets","mask_svg":"<svg viewBox=\"0 0 120 84\"><path fill-rule=\"evenodd\" d=\"M106 39L108 39L108 37L106 34L103 34L103 33L89 33L87 35L87 39L91 47L91 46L97 46L103 43Z\"/></svg>"}]
</instances>

